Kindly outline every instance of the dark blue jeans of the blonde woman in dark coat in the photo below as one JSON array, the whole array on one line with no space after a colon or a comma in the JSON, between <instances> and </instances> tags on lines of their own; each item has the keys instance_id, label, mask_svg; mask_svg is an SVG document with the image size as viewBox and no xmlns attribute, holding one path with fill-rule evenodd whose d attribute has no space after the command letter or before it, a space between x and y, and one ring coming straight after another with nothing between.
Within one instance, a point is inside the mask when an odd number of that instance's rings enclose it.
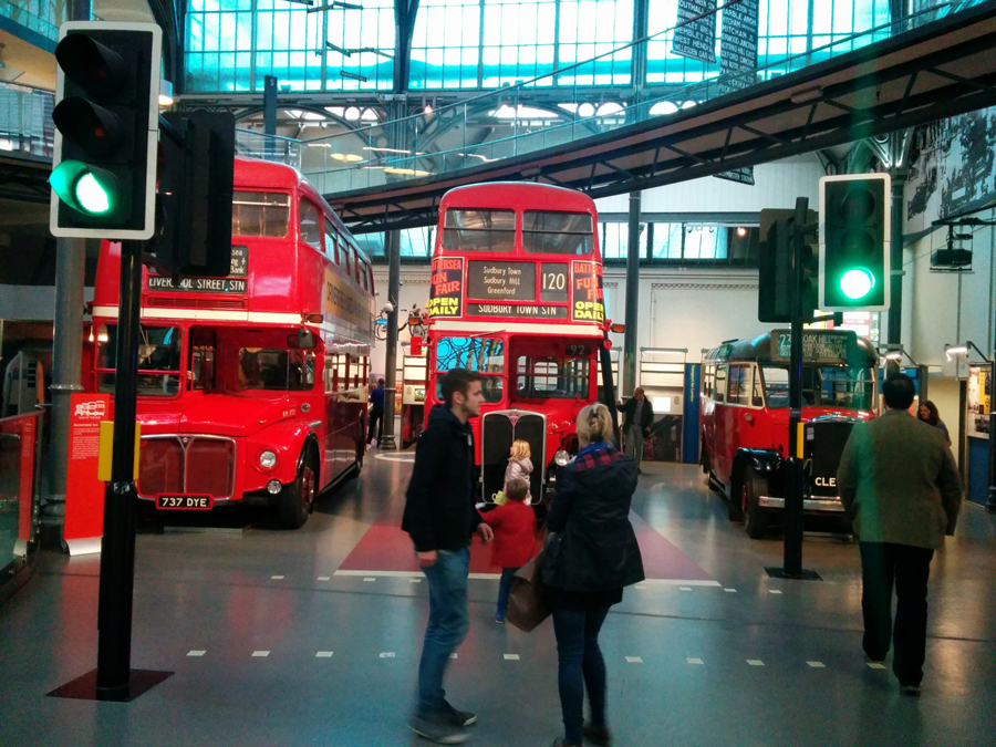
<instances>
[{"instance_id":1,"label":"dark blue jeans of the blonde woman in dark coat","mask_svg":"<svg viewBox=\"0 0 996 747\"><path fill-rule=\"evenodd\" d=\"M563 712L564 739L572 745L580 745L583 739L585 687L591 723L605 725L605 661L599 649L599 631L608 614L608 606L553 610L560 709Z\"/></svg>"}]
</instances>

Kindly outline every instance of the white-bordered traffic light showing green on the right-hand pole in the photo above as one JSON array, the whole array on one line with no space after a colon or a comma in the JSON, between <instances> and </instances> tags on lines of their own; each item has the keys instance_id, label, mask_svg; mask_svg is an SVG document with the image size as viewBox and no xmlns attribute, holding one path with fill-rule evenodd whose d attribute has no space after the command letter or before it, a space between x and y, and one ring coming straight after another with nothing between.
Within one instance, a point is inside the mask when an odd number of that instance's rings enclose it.
<instances>
[{"instance_id":1,"label":"white-bordered traffic light showing green on the right-hand pole","mask_svg":"<svg viewBox=\"0 0 996 747\"><path fill-rule=\"evenodd\" d=\"M888 174L820 179L820 308L889 308Z\"/></svg>"}]
</instances>

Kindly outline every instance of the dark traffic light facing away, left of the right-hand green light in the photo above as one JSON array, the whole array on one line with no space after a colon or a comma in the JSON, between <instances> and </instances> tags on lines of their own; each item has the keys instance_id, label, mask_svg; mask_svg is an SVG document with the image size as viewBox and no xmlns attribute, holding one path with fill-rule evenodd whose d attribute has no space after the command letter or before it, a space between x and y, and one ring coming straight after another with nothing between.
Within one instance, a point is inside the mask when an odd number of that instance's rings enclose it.
<instances>
[{"instance_id":1,"label":"dark traffic light facing away, left of the right-hand green light","mask_svg":"<svg viewBox=\"0 0 996 747\"><path fill-rule=\"evenodd\" d=\"M796 234L796 211L765 209L760 212L760 256L757 297L757 319L761 322L787 323L792 321L792 268ZM802 229L800 252L801 283L799 286L799 317L812 321L817 308L816 250L817 214L809 210Z\"/></svg>"}]
</instances>

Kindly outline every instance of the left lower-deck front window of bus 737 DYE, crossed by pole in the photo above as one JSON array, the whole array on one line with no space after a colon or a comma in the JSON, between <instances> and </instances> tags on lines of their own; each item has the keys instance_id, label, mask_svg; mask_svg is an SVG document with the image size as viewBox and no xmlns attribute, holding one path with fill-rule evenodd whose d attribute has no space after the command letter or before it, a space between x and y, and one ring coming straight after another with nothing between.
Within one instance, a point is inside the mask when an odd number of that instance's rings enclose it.
<instances>
[{"instance_id":1,"label":"left lower-deck front window of bus 737 DYE, crossed by pole","mask_svg":"<svg viewBox=\"0 0 996 747\"><path fill-rule=\"evenodd\" d=\"M139 328L138 396L174 397L179 393L181 374L178 326ZM117 366L117 324L103 324L97 331L97 391L114 393Z\"/></svg>"}]
</instances>

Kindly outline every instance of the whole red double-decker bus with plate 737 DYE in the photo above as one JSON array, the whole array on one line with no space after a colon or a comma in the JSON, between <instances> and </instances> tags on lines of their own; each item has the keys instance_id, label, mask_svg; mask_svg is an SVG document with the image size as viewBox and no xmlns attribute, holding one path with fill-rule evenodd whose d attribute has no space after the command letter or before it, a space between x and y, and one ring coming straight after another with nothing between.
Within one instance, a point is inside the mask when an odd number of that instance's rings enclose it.
<instances>
[{"instance_id":1,"label":"whole red double-decker bus with plate 737 DYE","mask_svg":"<svg viewBox=\"0 0 996 747\"><path fill-rule=\"evenodd\" d=\"M370 260L293 168L236 158L227 278L143 270L138 494L157 508L267 504L284 526L363 464ZM94 288L91 391L113 393L121 247Z\"/></svg>"}]
</instances>

